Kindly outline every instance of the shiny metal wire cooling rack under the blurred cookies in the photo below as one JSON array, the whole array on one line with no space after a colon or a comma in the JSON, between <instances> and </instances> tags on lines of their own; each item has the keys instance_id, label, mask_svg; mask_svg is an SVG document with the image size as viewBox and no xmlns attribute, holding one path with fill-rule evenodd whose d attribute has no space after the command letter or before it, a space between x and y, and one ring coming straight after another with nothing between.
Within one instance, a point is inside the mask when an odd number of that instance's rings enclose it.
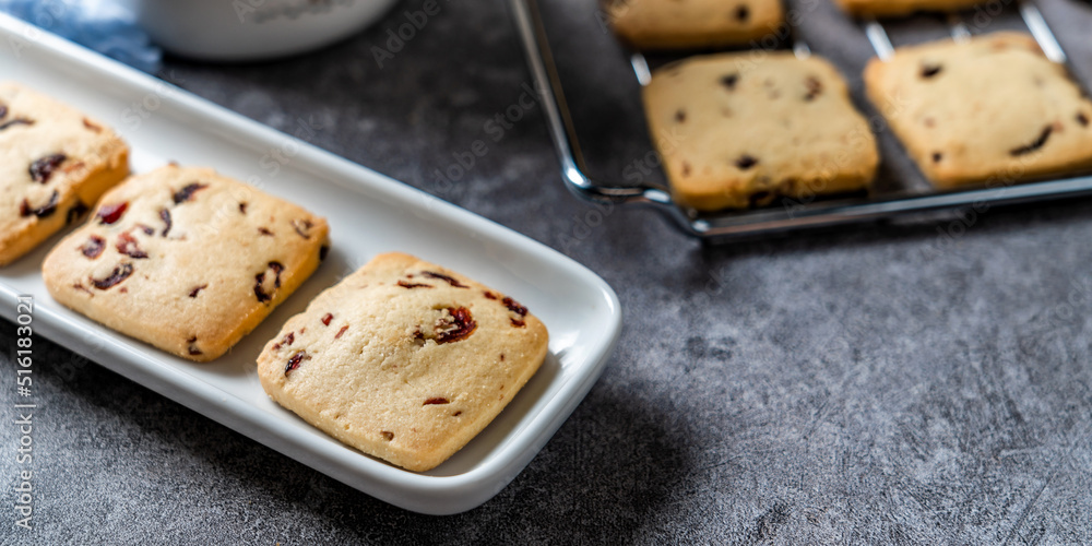
<instances>
[{"instance_id":1,"label":"shiny metal wire cooling rack under the blurred cookies","mask_svg":"<svg viewBox=\"0 0 1092 546\"><path fill-rule=\"evenodd\" d=\"M617 183L615 179L604 179L589 174L589 165L585 158L590 154L585 155L585 151L581 149L578 142L578 127L574 122L574 120L582 122L589 120L586 117L580 118L574 115L573 109L570 108L567 100L565 82L562 81L565 78L559 75L561 70L559 70L559 63L555 60L555 48L550 45L551 38L556 38L557 36L547 34L548 24L537 0L510 1L512 16L520 32L531 74L539 95L538 98L543 114L546 118L554 145L557 149L558 159L561 165L561 178L573 193L596 203L598 206L644 205L652 207L664 213L687 234L714 242L723 242L761 238L790 232L846 226L867 222L893 221L900 217L913 217L914 215L936 221L935 218L938 215L948 218L960 213L966 214L970 207L983 210L983 207L1092 195L1092 176L1046 179L996 188L980 187L939 191L931 188L928 183L923 183L924 178L916 180L916 183L914 183L914 181L900 180L899 177L890 176L890 173L885 177L885 173L881 169L880 177L877 179L874 188L867 192L867 195L816 199L807 204L791 203L748 211L726 211L720 213L702 213L679 206L672 201L666 182L662 181L664 176L660 171L658 166L654 169L657 171L654 177L658 177L661 180L649 181L642 179L636 183ZM600 25L598 29L604 34L609 34L602 13L593 12L595 1L589 0L586 4L589 5L586 16L596 17ZM555 10L560 9L557 5L551 5L550 8ZM1056 62L1068 62L1063 47L1033 1L1018 0L1009 11L1012 12L1012 17L1019 17L1017 21L1022 21L1023 28L1021 29L1029 31L1038 40L1040 46L1048 58ZM968 15L971 15L971 13L968 13ZM845 16L848 17L848 15ZM947 26L946 34L950 34L956 39L963 39L971 34L960 14L948 15L943 23ZM853 24L864 33L871 44L874 50L869 51L868 55L886 58L891 54L891 39L888 37L888 32L885 27L885 24L891 23L868 20L857 21ZM782 40L780 47L791 47L797 55L809 55L810 49L797 37L797 29L793 29L791 34L786 40ZM607 38L613 39L613 36L607 36ZM630 78L634 79L632 82L620 82L619 85L628 84L636 86L637 84L643 85L646 83L649 62L639 52L626 51L621 46L618 46L618 48L619 50L615 51L618 54L617 63L629 64L631 69L627 67L627 71L631 70ZM581 51L581 55L600 56L602 52L586 50ZM610 54L610 51L607 51L607 54ZM629 56L629 59L626 59L627 56ZM565 69L566 67L560 68ZM573 71L570 70L569 72ZM1070 72L1072 73L1072 70ZM851 74L845 75L850 76ZM580 73L567 74L569 79L568 84L571 85L573 80L579 80L580 76ZM618 82L616 81L616 83ZM855 100L863 103L859 96L856 96ZM601 110L607 109L603 108L602 104L600 106ZM610 112L606 114L609 115ZM603 118L603 115L597 112L595 117ZM613 121L598 119L595 122L603 124L612 123ZM630 129L639 131L639 129ZM646 130L644 134L648 134ZM650 146L648 150L651 150L651 143L648 145ZM605 146L597 147L603 149ZM890 146L888 150L885 150L881 145L880 151L881 156L883 156L881 161L891 159L889 157L892 154ZM903 165L910 164L910 158L905 156L905 152L902 151L901 145L895 153L902 155L902 157L895 161L902 162ZM913 170L914 173L918 173L916 167L913 167ZM617 171L615 175L617 175ZM620 177L607 175L607 178Z\"/></svg>"}]
</instances>

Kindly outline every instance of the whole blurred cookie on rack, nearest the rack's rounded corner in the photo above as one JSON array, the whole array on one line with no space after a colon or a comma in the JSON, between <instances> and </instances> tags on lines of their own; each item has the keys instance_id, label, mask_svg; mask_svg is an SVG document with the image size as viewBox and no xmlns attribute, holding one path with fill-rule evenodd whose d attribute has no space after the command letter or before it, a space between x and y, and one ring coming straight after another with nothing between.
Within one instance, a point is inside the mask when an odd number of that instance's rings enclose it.
<instances>
[{"instance_id":1,"label":"whole blurred cookie on rack, nearest the rack's rounded corner","mask_svg":"<svg viewBox=\"0 0 1092 546\"><path fill-rule=\"evenodd\" d=\"M859 190L879 163L842 76L815 56L687 59L653 74L644 108L675 201L699 211Z\"/></svg>"}]
</instances>

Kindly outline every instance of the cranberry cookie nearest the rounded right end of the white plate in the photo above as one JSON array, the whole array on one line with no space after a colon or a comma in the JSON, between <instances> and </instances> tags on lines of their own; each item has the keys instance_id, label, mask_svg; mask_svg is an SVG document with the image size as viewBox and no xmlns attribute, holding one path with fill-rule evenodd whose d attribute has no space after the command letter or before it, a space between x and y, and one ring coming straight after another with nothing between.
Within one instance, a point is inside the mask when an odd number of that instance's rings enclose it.
<instances>
[{"instance_id":1,"label":"cranberry cookie nearest the rounded right end of the white plate","mask_svg":"<svg viewBox=\"0 0 1092 546\"><path fill-rule=\"evenodd\" d=\"M376 257L289 319L258 358L265 392L330 436L411 471L486 427L546 356L510 297L412 256Z\"/></svg>"}]
</instances>

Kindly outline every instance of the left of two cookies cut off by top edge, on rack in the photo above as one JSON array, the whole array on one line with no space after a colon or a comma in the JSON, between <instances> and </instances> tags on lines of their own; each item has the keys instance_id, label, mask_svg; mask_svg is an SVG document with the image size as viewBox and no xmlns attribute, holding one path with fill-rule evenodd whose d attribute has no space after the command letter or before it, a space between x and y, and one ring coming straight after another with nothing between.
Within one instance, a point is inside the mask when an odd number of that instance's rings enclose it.
<instances>
[{"instance_id":1,"label":"left of two cookies cut off by top edge, on rack","mask_svg":"<svg viewBox=\"0 0 1092 546\"><path fill-rule=\"evenodd\" d=\"M746 45L778 29L781 0L607 0L615 33L637 49Z\"/></svg>"}]
</instances>

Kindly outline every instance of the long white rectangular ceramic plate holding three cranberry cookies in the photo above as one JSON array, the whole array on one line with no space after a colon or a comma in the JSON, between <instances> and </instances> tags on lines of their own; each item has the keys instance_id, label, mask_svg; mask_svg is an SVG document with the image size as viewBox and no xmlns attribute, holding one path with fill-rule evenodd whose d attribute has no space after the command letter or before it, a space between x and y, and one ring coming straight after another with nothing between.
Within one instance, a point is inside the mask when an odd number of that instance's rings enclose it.
<instances>
[{"instance_id":1,"label":"long white rectangular ceramic plate holding three cranberry cookies","mask_svg":"<svg viewBox=\"0 0 1092 546\"><path fill-rule=\"evenodd\" d=\"M214 167L325 216L327 261L226 356L193 364L118 334L50 298L41 261L59 240L0 269L2 312L33 295L34 331L106 368L399 507L458 513L519 474L602 373L621 329L614 290L567 257L508 228L178 87L0 14L0 74L109 123L143 173L169 161ZM280 151L276 155L271 152ZM271 157L287 157L287 162ZM270 401L256 359L265 341L322 289L380 252L399 250L511 294L549 329L549 355L511 404L437 468L413 473L325 436ZM39 363L48 366L49 363Z\"/></svg>"}]
</instances>

